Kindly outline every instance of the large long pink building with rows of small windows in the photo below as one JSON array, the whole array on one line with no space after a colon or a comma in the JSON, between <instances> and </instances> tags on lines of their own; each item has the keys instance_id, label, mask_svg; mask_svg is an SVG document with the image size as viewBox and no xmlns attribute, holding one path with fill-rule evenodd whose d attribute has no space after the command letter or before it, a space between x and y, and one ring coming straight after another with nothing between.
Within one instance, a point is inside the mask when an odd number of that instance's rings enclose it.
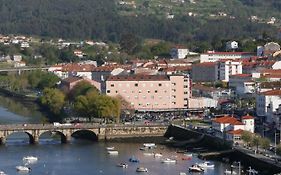
<instances>
[{"instance_id":1,"label":"large long pink building with rows of small windows","mask_svg":"<svg viewBox=\"0 0 281 175\"><path fill-rule=\"evenodd\" d=\"M184 75L117 75L107 79L106 94L122 96L135 110L169 111L188 108L191 86Z\"/></svg>"}]
</instances>

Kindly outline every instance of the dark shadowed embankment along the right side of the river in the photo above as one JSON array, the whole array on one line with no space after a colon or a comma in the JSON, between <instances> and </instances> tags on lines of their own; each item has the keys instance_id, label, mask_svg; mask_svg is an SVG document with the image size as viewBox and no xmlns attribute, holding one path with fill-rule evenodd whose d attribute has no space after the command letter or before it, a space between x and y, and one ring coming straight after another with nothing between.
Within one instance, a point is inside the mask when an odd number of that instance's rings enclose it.
<instances>
[{"instance_id":1,"label":"dark shadowed embankment along the right side of the river","mask_svg":"<svg viewBox=\"0 0 281 175\"><path fill-rule=\"evenodd\" d=\"M171 141L170 146L172 147L182 143L179 146L181 149L190 151L196 151L198 149L199 157L201 159L218 160L230 164L233 164L233 162L241 162L244 169L251 166L258 170L262 175L273 175L281 172L281 167L277 164L257 156L248 155L239 149L232 148L230 143L225 142L222 139L208 136L194 130L171 125L165 136L173 137L173 140L175 140Z\"/></svg>"}]
</instances>

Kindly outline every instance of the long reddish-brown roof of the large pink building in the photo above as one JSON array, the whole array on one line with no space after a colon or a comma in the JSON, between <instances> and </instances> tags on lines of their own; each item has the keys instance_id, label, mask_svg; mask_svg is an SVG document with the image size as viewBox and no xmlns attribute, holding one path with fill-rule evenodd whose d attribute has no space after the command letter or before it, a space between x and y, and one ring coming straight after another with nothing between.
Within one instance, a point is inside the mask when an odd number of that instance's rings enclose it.
<instances>
[{"instance_id":1,"label":"long reddish-brown roof of the large pink building","mask_svg":"<svg viewBox=\"0 0 281 175\"><path fill-rule=\"evenodd\" d=\"M169 77L166 75L117 75L110 76L107 81L169 81Z\"/></svg>"}]
</instances>

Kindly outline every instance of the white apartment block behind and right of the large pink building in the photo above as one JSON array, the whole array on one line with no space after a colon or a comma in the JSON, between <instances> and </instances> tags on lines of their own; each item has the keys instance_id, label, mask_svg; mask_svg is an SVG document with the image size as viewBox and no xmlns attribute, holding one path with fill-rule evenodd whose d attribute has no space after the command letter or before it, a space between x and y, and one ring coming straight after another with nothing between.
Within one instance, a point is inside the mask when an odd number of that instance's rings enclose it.
<instances>
[{"instance_id":1,"label":"white apartment block behind and right of the large pink building","mask_svg":"<svg viewBox=\"0 0 281 175\"><path fill-rule=\"evenodd\" d=\"M221 60L217 63L218 80L229 81L230 75L242 74L242 62L233 60Z\"/></svg>"}]
</instances>

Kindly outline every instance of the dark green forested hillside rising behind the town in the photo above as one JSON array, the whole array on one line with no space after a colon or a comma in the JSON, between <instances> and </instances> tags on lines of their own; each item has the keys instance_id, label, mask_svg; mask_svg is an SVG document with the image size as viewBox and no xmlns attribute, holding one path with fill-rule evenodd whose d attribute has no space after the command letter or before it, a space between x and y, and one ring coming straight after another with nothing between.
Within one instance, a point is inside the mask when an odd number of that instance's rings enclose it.
<instances>
[{"instance_id":1,"label":"dark green forested hillside rising behind the town","mask_svg":"<svg viewBox=\"0 0 281 175\"><path fill-rule=\"evenodd\" d=\"M161 3L160 0L156 1ZM258 13L259 9L263 11L261 14L280 16L279 0L212 0L212 5L210 0L194 0L193 5L189 2L179 5L171 3L171 0L162 1L177 7L174 12L177 15L173 19L157 15L157 9L153 11L152 8L154 1L147 0L136 0L133 10L120 8L120 1L114 0L0 0L0 33L113 42L119 41L125 33L132 33L140 38L187 43L213 42L217 38L257 37L265 33L275 37L278 29L276 25L252 22L248 18L249 13ZM183 13L189 6L204 15L189 16L187 10ZM200 7L208 9L208 13L225 11L231 18L209 19L206 17L207 11ZM266 9L271 10L264 13Z\"/></svg>"}]
</instances>

